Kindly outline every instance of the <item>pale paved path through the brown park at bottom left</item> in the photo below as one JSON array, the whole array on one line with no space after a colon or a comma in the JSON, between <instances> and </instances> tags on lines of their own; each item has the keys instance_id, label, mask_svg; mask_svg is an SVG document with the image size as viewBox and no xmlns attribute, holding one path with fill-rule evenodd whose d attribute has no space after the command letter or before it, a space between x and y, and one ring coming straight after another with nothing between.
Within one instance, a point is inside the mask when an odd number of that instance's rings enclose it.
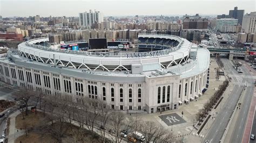
<instances>
[{"instance_id":1,"label":"pale paved path through the brown park at bottom left","mask_svg":"<svg viewBox=\"0 0 256 143\"><path fill-rule=\"evenodd\" d=\"M15 140L25 134L25 130L21 130L20 128L15 127L15 122L16 122L16 116L19 115L21 112L16 111L12 113L9 118L10 118L10 125L9 125L9 134L6 136L8 138L8 143L14 143Z\"/></svg>"}]
</instances>

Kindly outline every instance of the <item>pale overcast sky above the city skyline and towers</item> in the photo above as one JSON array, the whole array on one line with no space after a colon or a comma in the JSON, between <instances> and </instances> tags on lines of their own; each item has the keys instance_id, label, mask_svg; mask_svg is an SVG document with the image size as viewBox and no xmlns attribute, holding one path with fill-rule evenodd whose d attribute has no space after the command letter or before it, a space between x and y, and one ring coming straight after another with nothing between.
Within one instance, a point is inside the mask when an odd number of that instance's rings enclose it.
<instances>
[{"instance_id":1,"label":"pale overcast sky above the city skyline and towers","mask_svg":"<svg viewBox=\"0 0 256 143\"><path fill-rule=\"evenodd\" d=\"M3 17L28 17L40 15L76 16L79 12L97 10L104 16L134 15L219 15L228 14L238 6L245 13L256 11L256 2L248 0L0 0L0 15Z\"/></svg>"}]
</instances>

